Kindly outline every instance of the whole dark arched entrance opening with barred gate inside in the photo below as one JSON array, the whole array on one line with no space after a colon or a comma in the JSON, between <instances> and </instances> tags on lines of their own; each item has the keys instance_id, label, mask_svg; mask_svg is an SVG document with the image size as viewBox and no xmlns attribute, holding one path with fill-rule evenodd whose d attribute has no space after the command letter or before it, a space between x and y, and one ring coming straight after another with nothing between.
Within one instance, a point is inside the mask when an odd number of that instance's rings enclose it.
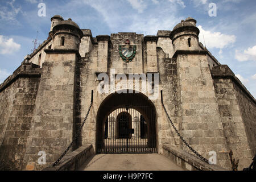
<instances>
[{"instance_id":1,"label":"whole dark arched entrance opening with barred gate inside","mask_svg":"<svg viewBox=\"0 0 256 182\"><path fill-rule=\"evenodd\" d=\"M97 153L152 153L156 148L155 106L142 93L113 93L97 113Z\"/></svg>"}]
</instances>

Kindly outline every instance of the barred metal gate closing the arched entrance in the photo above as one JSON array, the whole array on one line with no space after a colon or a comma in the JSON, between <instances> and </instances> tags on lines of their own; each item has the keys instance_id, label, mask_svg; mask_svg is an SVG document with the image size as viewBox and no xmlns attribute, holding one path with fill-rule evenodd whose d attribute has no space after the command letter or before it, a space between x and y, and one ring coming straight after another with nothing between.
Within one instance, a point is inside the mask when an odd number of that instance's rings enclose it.
<instances>
[{"instance_id":1,"label":"barred metal gate closing the arched entrance","mask_svg":"<svg viewBox=\"0 0 256 182\"><path fill-rule=\"evenodd\" d=\"M143 106L141 106L143 107ZM148 107L148 106L144 106ZM152 117L138 110L119 107L106 117L100 153L153 153L156 151L155 133L152 133ZM155 128L155 127L154 127Z\"/></svg>"}]
</instances>

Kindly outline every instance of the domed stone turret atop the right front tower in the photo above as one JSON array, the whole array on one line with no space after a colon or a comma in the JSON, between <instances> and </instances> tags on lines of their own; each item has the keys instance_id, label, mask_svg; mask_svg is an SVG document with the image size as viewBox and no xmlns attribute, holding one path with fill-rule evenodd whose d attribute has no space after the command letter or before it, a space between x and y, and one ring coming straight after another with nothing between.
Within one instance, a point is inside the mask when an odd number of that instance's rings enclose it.
<instances>
[{"instance_id":1,"label":"domed stone turret atop the right front tower","mask_svg":"<svg viewBox=\"0 0 256 182\"><path fill-rule=\"evenodd\" d=\"M170 34L175 51L199 50L199 32L195 19L188 17L186 20L181 20Z\"/></svg>"}]
</instances>

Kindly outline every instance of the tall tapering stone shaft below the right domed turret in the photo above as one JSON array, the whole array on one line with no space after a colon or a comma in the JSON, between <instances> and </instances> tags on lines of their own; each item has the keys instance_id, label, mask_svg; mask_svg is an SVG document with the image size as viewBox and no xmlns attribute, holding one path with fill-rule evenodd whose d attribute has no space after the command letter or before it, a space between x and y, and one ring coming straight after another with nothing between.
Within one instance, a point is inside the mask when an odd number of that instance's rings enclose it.
<instances>
[{"instance_id":1,"label":"tall tapering stone shaft below the right domed turret","mask_svg":"<svg viewBox=\"0 0 256 182\"><path fill-rule=\"evenodd\" d=\"M207 51L176 51L179 102L179 130L204 158L217 153L217 164L230 167L224 130L218 111ZM184 143L183 150L191 152Z\"/></svg>"}]
</instances>

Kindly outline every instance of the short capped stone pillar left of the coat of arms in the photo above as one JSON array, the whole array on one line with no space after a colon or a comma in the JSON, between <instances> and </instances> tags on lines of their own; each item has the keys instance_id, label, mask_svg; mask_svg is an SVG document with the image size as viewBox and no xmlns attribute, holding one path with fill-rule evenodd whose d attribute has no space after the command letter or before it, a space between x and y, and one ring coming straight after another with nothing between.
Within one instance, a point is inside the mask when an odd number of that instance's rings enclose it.
<instances>
[{"instance_id":1,"label":"short capped stone pillar left of the coat of arms","mask_svg":"<svg viewBox=\"0 0 256 182\"><path fill-rule=\"evenodd\" d=\"M98 35L96 36L98 41L98 58L97 58L97 68L98 72L108 71L108 52L110 44L109 35Z\"/></svg>"}]
</instances>

